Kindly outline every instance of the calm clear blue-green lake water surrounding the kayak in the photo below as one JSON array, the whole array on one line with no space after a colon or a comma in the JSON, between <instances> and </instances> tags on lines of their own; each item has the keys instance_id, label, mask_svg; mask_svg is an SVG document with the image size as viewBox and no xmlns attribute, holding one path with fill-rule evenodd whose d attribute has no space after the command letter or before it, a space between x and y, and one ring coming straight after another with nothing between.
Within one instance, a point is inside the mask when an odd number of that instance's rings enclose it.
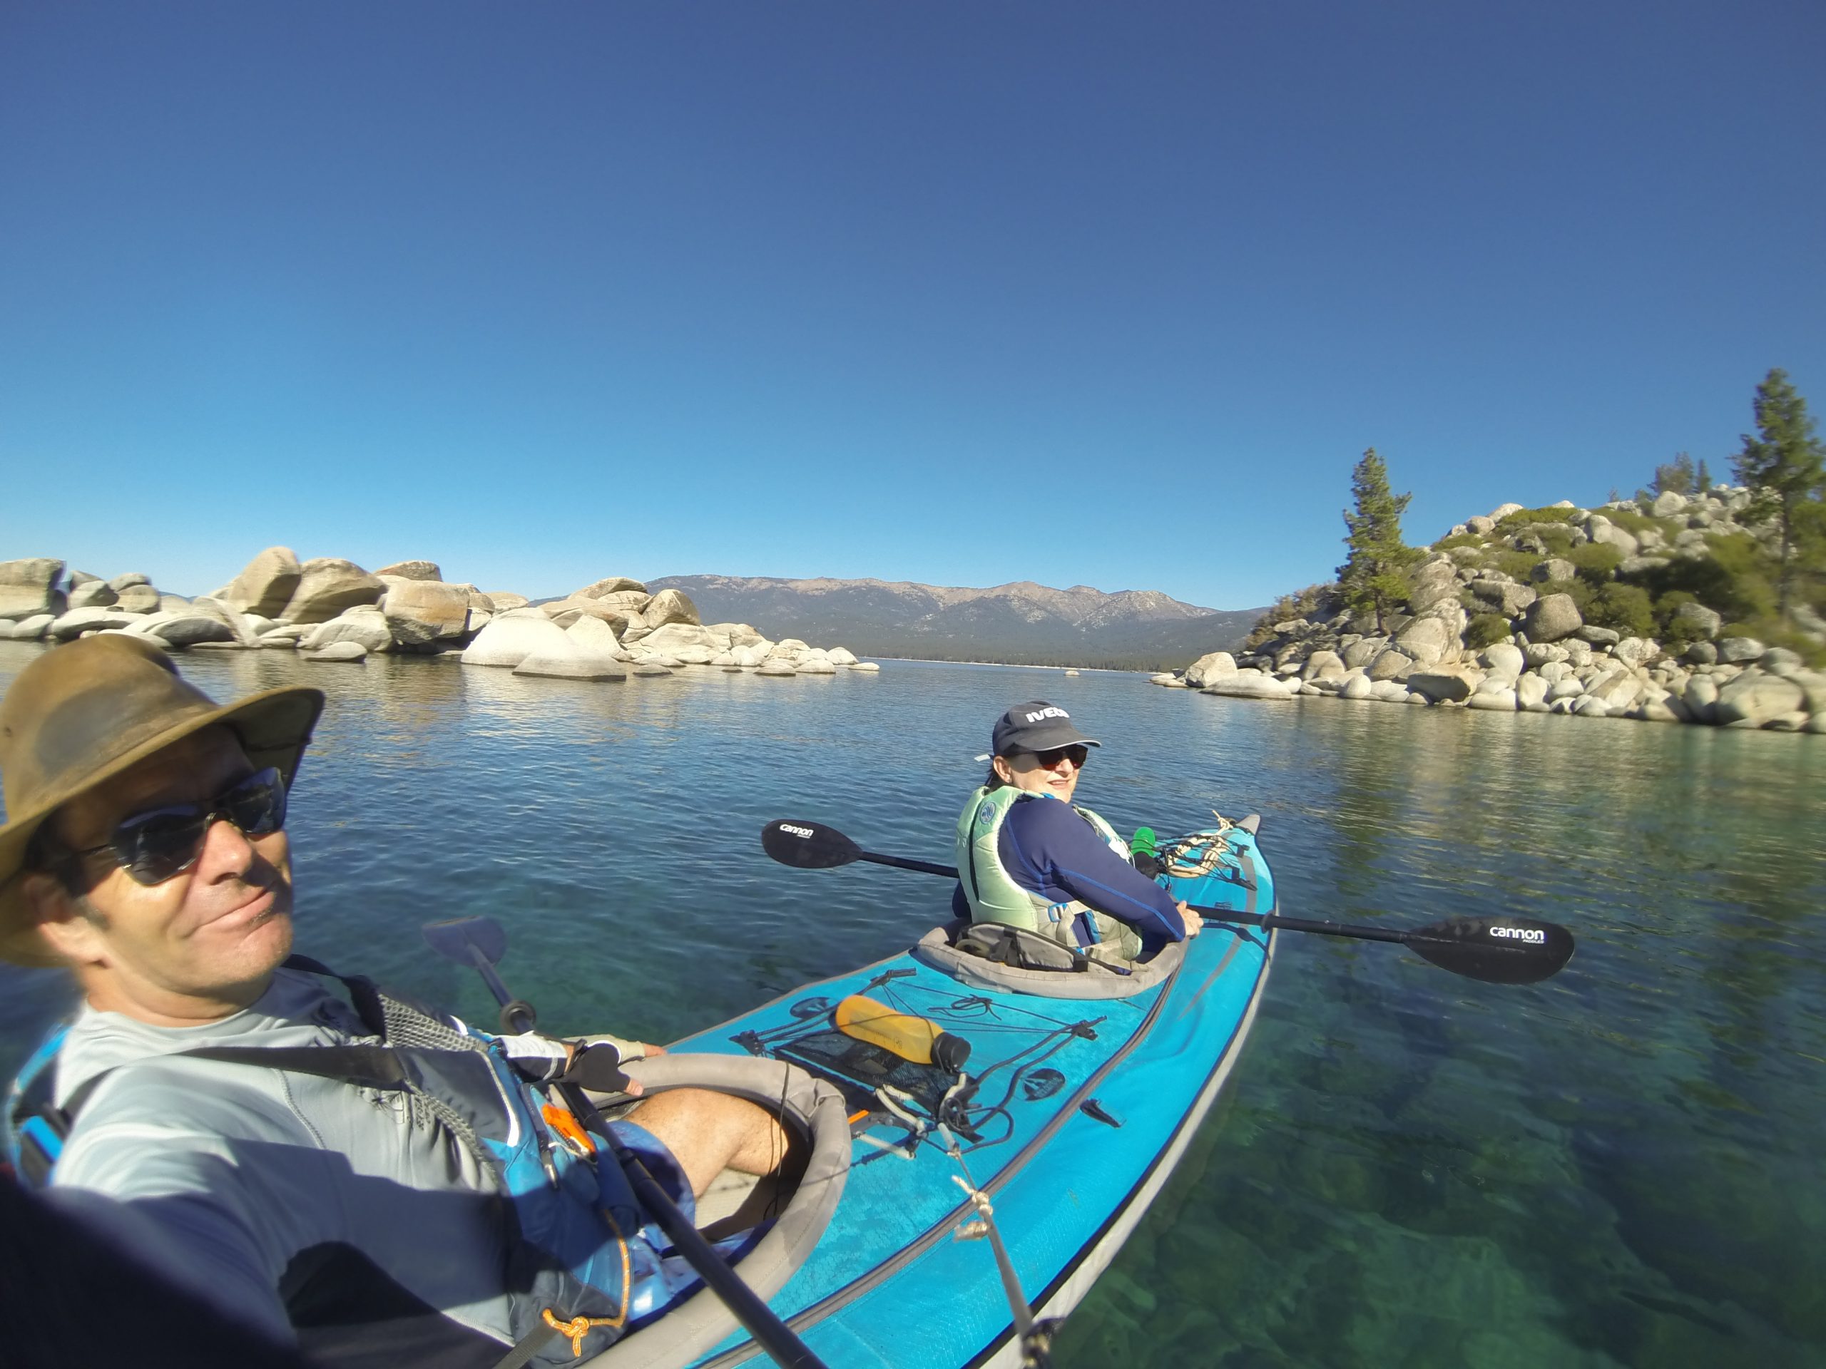
<instances>
[{"instance_id":1,"label":"calm clear blue-green lake water surrounding the kayak","mask_svg":"<svg viewBox=\"0 0 1826 1369\"><path fill-rule=\"evenodd\" d=\"M0 686L37 650L0 643ZM418 936L486 913L544 1028L654 1040L940 920L946 882L789 871L761 823L950 862L990 723L1052 699L1105 741L1079 798L1118 829L1260 812L1287 913L1579 938L1558 978L1499 988L1284 936L1227 1103L1061 1369L1826 1364L1826 737L893 661L626 684L181 664L217 697L331 692L294 790L301 951L489 1020ZM66 995L0 971L7 1073Z\"/></svg>"}]
</instances>

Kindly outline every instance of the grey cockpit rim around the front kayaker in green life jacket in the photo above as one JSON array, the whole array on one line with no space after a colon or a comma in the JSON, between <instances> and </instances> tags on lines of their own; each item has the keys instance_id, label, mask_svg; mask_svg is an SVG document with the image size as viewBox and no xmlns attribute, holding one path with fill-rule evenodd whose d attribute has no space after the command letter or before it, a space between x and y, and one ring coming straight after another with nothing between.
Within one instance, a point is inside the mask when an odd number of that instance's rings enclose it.
<instances>
[{"instance_id":1,"label":"grey cockpit rim around the front kayaker in green life jacket","mask_svg":"<svg viewBox=\"0 0 1826 1369\"><path fill-rule=\"evenodd\" d=\"M911 955L973 989L1046 998L1128 998L1172 975L1185 958L1185 944L1176 942L1152 960L1116 969L1021 927L953 920L920 936Z\"/></svg>"}]
</instances>

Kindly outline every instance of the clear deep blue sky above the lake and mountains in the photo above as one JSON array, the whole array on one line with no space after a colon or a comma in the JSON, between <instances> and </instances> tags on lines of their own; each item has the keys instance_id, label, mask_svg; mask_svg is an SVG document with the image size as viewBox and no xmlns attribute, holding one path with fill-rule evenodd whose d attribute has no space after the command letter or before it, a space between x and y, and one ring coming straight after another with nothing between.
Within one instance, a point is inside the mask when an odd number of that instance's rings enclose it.
<instances>
[{"instance_id":1,"label":"clear deep blue sky above the lake and mountains","mask_svg":"<svg viewBox=\"0 0 1826 1369\"><path fill-rule=\"evenodd\" d=\"M1242 608L1826 409L1826 5L11 4L0 559Z\"/></svg>"}]
</instances>

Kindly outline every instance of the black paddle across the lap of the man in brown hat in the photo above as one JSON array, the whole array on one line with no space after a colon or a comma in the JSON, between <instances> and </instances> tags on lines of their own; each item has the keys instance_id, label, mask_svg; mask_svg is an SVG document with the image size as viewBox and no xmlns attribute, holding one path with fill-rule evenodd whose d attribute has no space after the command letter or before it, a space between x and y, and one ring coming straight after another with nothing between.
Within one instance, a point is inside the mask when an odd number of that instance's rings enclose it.
<instances>
[{"instance_id":1,"label":"black paddle across the lap of the man in brown hat","mask_svg":"<svg viewBox=\"0 0 1826 1369\"><path fill-rule=\"evenodd\" d=\"M447 944L456 940L456 936L462 936L464 931L466 927L462 924L440 924L442 935L435 936L433 929L427 927L425 940L429 940L438 951L449 955L451 947ZM502 1006L506 1026L513 1031L531 1031L531 1004L513 998L508 993L508 986L502 984L500 975L495 973L489 953L475 940L467 940L467 955L464 955L462 960L473 964L480 971L489 993L493 993ZM559 1093L564 1095L564 1103L570 1110L579 1121L582 1121L584 1128L608 1146L615 1163L621 1166L621 1172L628 1176L628 1185L634 1188L634 1196L639 1199L641 1207L654 1214L665 1234L672 1238L672 1245L681 1256L685 1256L685 1263L698 1270L698 1278L703 1280L705 1287L723 1300L723 1305L729 1307L743 1329L754 1336L756 1343L767 1351L769 1358L772 1358L774 1364L783 1365L783 1369L825 1369L824 1360L820 1360L805 1342L792 1334L792 1329L780 1320L774 1309L769 1307L754 1292L754 1289L741 1281L741 1276L729 1267L723 1256L719 1256L710 1241L705 1239L703 1232L690 1223L690 1217L679 1212L677 1203L674 1203L666 1190L659 1186L659 1181L646 1172L646 1165L641 1163L641 1157L615 1137L608 1121L590 1101L590 1095L577 1084L559 1084L557 1088Z\"/></svg>"}]
</instances>

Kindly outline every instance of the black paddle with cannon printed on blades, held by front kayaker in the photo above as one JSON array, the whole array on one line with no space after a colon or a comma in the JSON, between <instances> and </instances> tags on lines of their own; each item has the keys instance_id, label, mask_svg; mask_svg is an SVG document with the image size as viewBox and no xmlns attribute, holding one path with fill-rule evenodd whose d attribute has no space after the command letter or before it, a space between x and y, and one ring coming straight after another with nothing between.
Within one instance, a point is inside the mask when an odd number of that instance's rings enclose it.
<instances>
[{"instance_id":1,"label":"black paddle with cannon printed on blades, held by front kayaker","mask_svg":"<svg viewBox=\"0 0 1826 1369\"><path fill-rule=\"evenodd\" d=\"M944 874L957 878L951 865L926 860L878 856L864 851L834 827L803 820L776 820L761 829L761 847L782 865L802 871L831 871L838 865L867 862L893 865L902 871ZM1539 984L1565 969L1572 958L1572 933L1556 922L1534 918L1446 918L1430 927L1390 931L1386 927L1357 927L1344 922L1311 922L1284 918L1278 913L1238 913L1227 907L1198 907L1192 911L1209 922L1271 927L1276 931L1304 931L1318 936L1348 936L1359 942L1395 942L1406 946L1428 964L1485 984Z\"/></svg>"}]
</instances>

